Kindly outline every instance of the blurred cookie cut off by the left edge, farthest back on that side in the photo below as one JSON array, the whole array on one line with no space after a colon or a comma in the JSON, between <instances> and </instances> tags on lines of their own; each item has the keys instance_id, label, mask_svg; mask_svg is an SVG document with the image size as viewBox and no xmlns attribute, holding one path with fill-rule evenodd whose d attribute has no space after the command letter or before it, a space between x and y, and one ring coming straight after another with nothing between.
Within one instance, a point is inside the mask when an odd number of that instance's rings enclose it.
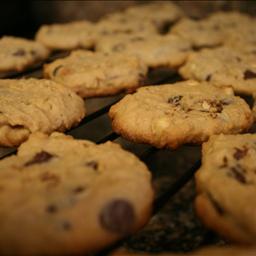
<instances>
[{"instance_id":1,"label":"blurred cookie cut off by the left edge, farthest back on that side","mask_svg":"<svg viewBox=\"0 0 256 256\"><path fill-rule=\"evenodd\" d=\"M24 71L48 55L49 50L38 42L4 36L0 39L0 73Z\"/></svg>"}]
</instances>

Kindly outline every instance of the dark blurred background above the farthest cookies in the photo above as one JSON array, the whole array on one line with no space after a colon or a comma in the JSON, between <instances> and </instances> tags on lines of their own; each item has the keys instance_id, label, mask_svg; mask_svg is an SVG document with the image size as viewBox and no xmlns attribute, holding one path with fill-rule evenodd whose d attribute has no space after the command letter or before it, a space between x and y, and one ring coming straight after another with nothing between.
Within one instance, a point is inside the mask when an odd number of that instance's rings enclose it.
<instances>
[{"instance_id":1,"label":"dark blurred background above the farthest cookies","mask_svg":"<svg viewBox=\"0 0 256 256\"><path fill-rule=\"evenodd\" d=\"M104 14L149 1L1 1L0 36L32 38L41 24L77 19L97 21ZM217 10L240 10L256 14L256 1L175 1L189 16L200 18Z\"/></svg>"}]
</instances>

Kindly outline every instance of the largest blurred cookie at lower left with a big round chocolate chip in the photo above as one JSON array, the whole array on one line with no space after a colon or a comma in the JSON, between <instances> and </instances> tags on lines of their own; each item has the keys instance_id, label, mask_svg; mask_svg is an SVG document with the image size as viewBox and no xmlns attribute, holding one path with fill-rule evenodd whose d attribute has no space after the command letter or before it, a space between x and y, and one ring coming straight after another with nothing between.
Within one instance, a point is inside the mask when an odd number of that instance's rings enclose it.
<instances>
[{"instance_id":1,"label":"largest blurred cookie at lower left with a big round chocolate chip","mask_svg":"<svg viewBox=\"0 0 256 256\"><path fill-rule=\"evenodd\" d=\"M150 216L150 172L112 142L36 133L0 169L1 255L85 255Z\"/></svg>"}]
</instances>

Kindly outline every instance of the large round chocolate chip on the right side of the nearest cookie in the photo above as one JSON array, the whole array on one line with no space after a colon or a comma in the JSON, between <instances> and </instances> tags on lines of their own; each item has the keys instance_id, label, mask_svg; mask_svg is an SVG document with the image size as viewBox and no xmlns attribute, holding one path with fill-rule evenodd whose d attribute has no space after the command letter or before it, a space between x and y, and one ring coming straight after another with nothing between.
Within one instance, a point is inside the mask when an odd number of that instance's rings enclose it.
<instances>
[{"instance_id":1,"label":"large round chocolate chip on the right side of the nearest cookie","mask_svg":"<svg viewBox=\"0 0 256 256\"><path fill-rule=\"evenodd\" d=\"M103 207L99 220L104 229L127 235L135 222L134 208L125 199L115 199Z\"/></svg>"}]
</instances>

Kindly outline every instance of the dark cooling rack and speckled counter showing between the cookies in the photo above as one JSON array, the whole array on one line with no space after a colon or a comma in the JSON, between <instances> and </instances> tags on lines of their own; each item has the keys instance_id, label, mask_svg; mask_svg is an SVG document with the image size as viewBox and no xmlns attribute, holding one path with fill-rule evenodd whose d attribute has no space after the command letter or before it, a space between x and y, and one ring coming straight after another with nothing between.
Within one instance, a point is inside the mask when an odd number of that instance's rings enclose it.
<instances>
[{"instance_id":1,"label":"dark cooling rack and speckled counter showing between the cookies","mask_svg":"<svg viewBox=\"0 0 256 256\"><path fill-rule=\"evenodd\" d=\"M60 56L62 57L63 54L51 56L50 60ZM40 77L41 67L42 65L39 65L30 71L12 74L11 77ZM159 73L154 72L151 71L149 74L147 84L157 85L180 80L180 77L173 71L164 70L163 72L163 70L160 70ZM135 144L120 137L111 130L107 113L109 108L123 96L124 94L120 94L86 100L87 116L79 126L67 132L75 138L90 139L96 143L103 143L108 140L115 141L121 144L123 148L136 154L152 172L156 198L151 222L138 234L119 242L99 255L106 255L113 248L119 246L139 251L188 251L202 244L219 243L221 240L201 226L193 212L193 175L200 166L200 147L187 145L175 151L158 150L149 145ZM14 152L15 149L0 148L0 159ZM187 187L189 192L184 192L187 191ZM183 198L184 193L188 198ZM170 214L169 217L168 214L166 216L165 208ZM179 211L179 214L176 211ZM187 215L187 217L183 215ZM184 223L180 222L180 216L189 220L188 228L186 221ZM185 229L183 224L186 226ZM158 228L155 229L155 226ZM173 239L172 234L178 235ZM190 234L190 238L187 238L188 234ZM164 236L164 239L161 239L162 236ZM184 236L186 237L185 240L183 239Z\"/></svg>"}]
</instances>

